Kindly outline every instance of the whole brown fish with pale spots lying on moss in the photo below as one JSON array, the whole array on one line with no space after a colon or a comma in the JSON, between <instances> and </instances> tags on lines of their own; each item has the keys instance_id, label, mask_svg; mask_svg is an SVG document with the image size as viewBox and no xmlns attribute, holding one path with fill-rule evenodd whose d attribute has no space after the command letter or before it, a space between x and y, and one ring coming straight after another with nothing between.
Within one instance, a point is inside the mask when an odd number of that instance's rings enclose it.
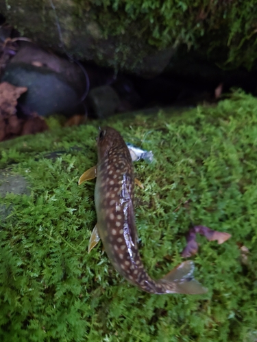
<instances>
[{"instance_id":1,"label":"whole brown fish with pale spots lying on moss","mask_svg":"<svg viewBox=\"0 0 257 342\"><path fill-rule=\"evenodd\" d=\"M207 290L193 278L192 261L181 263L160 280L150 278L138 252L130 151L119 132L110 127L100 131L97 151L97 167L90 168L79 179L81 184L97 176L97 225L89 249L101 239L114 268L130 283L149 293L206 293Z\"/></svg>"}]
</instances>

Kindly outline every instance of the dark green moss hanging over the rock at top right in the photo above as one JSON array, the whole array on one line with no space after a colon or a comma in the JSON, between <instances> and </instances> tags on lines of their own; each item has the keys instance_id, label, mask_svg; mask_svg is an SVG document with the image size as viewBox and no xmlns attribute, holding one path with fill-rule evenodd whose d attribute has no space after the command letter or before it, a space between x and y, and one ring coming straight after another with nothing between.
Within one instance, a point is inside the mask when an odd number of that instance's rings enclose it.
<instances>
[{"instance_id":1,"label":"dark green moss hanging over the rock at top right","mask_svg":"<svg viewBox=\"0 0 257 342\"><path fill-rule=\"evenodd\" d=\"M137 40L165 49L186 44L223 68L254 67L257 53L254 0L158 1L88 0L76 2L95 12L103 35L130 32ZM134 40L135 43L135 40ZM127 42L127 45L130 45Z\"/></svg>"}]
</instances>

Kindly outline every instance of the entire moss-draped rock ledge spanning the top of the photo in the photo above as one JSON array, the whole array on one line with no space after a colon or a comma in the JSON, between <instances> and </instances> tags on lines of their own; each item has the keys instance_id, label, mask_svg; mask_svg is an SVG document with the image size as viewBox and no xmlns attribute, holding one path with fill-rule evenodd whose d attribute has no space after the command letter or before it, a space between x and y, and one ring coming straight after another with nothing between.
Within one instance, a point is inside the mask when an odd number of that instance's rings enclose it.
<instances>
[{"instance_id":1,"label":"entire moss-draped rock ledge spanning the top of the photo","mask_svg":"<svg viewBox=\"0 0 257 342\"><path fill-rule=\"evenodd\" d=\"M180 45L225 68L256 66L254 0L236 6L220 0L8 0L1 1L0 12L22 35L45 47L63 52L61 33L64 47L77 58L117 70L151 73L167 51L172 55ZM158 62L149 70L150 58L144 69L147 57L158 51L163 51Z\"/></svg>"}]
</instances>

